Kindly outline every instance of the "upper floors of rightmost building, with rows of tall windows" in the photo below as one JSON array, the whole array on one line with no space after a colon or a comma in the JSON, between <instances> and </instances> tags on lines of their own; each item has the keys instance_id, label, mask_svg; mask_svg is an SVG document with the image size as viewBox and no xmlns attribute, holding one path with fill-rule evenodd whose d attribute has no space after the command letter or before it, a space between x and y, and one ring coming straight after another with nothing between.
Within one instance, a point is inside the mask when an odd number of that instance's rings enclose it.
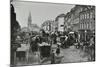
<instances>
[{"instance_id":1,"label":"upper floors of rightmost building, with rows of tall windows","mask_svg":"<svg viewBox=\"0 0 100 67\"><path fill-rule=\"evenodd\" d=\"M80 29L95 30L95 7L80 12Z\"/></svg>"}]
</instances>

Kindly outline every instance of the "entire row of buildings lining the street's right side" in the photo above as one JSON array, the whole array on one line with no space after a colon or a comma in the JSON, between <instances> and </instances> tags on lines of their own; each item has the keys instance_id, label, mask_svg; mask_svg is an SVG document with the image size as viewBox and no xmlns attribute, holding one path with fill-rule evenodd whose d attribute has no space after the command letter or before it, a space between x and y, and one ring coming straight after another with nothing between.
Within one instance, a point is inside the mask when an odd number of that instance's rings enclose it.
<instances>
[{"instance_id":1,"label":"entire row of buildings lining the street's right side","mask_svg":"<svg viewBox=\"0 0 100 67\"><path fill-rule=\"evenodd\" d=\"M81 35L81 39L84 39L85 33L95 34L95 6L75 5L66 14L58 15L55 20L45 21L42 28L50 32L75 31Z\"/></svg>"}]
</instances>

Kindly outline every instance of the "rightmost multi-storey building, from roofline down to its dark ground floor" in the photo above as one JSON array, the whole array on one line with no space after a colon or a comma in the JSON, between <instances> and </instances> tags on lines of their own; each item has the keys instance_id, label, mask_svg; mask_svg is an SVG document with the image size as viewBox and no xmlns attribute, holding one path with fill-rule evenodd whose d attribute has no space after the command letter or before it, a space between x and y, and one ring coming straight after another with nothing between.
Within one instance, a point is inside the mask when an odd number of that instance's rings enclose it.
<instances>
[{"instance_id":1,"label":"rightmost multi-storey building, from roofline down to its dark ground floor","mask_svg":"<svg viewBox=\"0 0 100 67\"><path fill-rule=\"evenodd\" d=\"M95 35L95 6L88 6L80 12L79 33L85 40Z\"/></svg>"}]
</instances>

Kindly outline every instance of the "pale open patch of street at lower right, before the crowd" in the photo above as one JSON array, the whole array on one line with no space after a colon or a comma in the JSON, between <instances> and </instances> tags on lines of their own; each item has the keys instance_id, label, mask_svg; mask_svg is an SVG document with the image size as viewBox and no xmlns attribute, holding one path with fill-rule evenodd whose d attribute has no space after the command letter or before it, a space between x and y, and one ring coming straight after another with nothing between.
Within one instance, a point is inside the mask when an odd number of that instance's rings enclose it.
<instances>
[{"instance_id":1,"label":"pale open patch of street at lower right, before the crowd","mask_svg":"<svg viewBox=\"0 0 100 67\"><path fill-rule=\"evenodd\" d=\"M88 61L88 56L83 57L85 53L79 49L75 49L74 46L71 46L69 49L62 49L62 53L64 54L62 63Z\"/></svg>"}]
</instances>

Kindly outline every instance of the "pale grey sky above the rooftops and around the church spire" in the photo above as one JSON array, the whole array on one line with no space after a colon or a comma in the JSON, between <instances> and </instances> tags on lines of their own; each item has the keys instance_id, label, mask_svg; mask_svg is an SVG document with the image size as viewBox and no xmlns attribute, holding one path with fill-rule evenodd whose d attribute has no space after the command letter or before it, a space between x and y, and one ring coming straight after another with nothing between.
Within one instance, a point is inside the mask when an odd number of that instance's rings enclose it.
<instances>
[{"instance_id":1,"label":"pale grey sky above the rooftops and around the church spire","mask_svg":"<svg viewBox=\"0 0 100 67\"><path fill-rule=\"evenodd\" d=\"M29 13L31 13L32 23L39 27L46 20L55 20L60 14L66 14L75 5L40 3L29 1L13 1L15 8L16 20L21 27L27 27Z\"/></svg>"}]
</instances>

